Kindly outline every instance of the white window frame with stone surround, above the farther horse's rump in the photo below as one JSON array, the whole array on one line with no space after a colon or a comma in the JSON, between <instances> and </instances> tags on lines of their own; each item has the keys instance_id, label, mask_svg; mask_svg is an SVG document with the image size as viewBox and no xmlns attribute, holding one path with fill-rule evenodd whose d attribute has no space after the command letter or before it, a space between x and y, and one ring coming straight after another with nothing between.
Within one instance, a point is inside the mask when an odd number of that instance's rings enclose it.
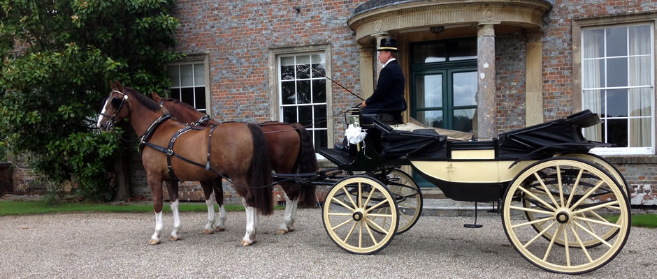
<instances>
[{"instance_id":1,"label":"white window frame with stone surround, above the farther horse's rump","mask_svg":"<svg viewBox=\"0 0 657 279\"><path fill-rule=\"evenodd\" d=\"M312 55L312 54L324 54L325 64L324 70L327 77L331 77L331 45L322 44L322 45L305 45L299 47L277 47L270 48L269 50L269 68L270 68L270 84L271 94L270 94L270 103L273 104L270 106L270 115L272 121L283 121L282 119L282 100L281 100L281 80L280 80L280 59L285 56L298 56L298 55ZM315 80L315 78L312 78ZM295 79L296 80L296 79ZM304 79L306 80L306 79ZM310 79L308 79L310 80ZM333 146L333 94L332 86L328 79L326 80L326 103L309 103L303 105L326 105L326 128L317 128L316 130L326 129L326 144L327 147ZM312 83L311 83L312 84ZM274 105L275 104L275 105ZM294 106L299 106L298 104ZM315 119L315 117L313 117ZM310 133L315 130L315 128L307 128ZM315 142L313 142L313 145ZM319 157L319 155L318 155Z\"/></svg>"}]
</instances>

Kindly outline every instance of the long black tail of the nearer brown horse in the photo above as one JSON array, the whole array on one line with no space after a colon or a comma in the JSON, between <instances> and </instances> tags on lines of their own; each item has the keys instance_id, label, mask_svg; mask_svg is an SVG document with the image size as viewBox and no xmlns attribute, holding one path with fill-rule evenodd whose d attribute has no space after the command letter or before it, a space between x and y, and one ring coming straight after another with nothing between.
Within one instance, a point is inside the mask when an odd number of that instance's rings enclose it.
<instances>
[{"instance_id":1,"label":"long black tail of the nearer brown horse","mask_svg":"<svg viewBox=\"0 0 657 279\"><path fill-rule=\"evenodd\" d=\"M265 139L262 128L254 123L247 123L253 137L253 156L251 159L249 188L255 207L263 215L271 215L274 211L273 186L263 187L271 184L271 161L269 159L269 146Z\"/></svg>"}]
</instances>

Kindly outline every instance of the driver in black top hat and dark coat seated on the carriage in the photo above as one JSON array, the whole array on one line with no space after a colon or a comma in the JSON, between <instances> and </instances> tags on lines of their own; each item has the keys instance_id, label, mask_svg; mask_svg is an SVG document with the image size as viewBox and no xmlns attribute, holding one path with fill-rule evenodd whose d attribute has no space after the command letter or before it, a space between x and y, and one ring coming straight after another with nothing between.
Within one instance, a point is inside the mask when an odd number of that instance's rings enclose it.
<instances>
[{"instance_id":1,"label":"driver in black top hat and dark coat seated on the carriage","mask_svg":"<svg viewBox=\"0 0 657 279\"><path fill-rule=\"evenodd\" d=\"M365 119L375 118L388 124L403 123L401 113L406 110L404 99L404 74L397 62L397 40L394 38L382 38L379 52L379 62L384 64L379 73L379 80L374 93L361 103L361 116ZM373 140L380 140L380 133L376 129L368 130ZM335 149L347 151L347 138L342 144L335 144Z\"/></svg>"}]
</instances>

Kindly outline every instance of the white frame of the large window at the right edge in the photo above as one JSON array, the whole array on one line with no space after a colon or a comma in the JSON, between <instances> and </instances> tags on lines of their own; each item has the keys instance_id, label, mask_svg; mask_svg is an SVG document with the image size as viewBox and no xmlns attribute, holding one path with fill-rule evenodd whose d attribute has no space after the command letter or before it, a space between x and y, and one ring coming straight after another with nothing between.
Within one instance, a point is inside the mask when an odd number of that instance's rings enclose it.
<instances>
[{"instance_id":1,"label":"white frame of the large window at the right edge","mask_svg":"<svg viewBox=\"0 0 657 279\"><path fill-rule=\"evenodd\" d=\"M630 55L629 43L628 43L628 45L627 45L627 47L628 47L627 55L625 55L625 56L607 56L607 53L606 53L607 52L607 47L606 47L606 43L607 43L606 38L607 38L607 36L605 36L605 42L604 42L604 44L605 44L605 54L604 54L604 56L602 56L601 58L589 58L589 59L585 59L583 54L581 54L579 56L579 58L580 58L579 61L580 61L580 65L581 65L580 76L579 76L579 79L580 79L579 85L581 86L580 87L581 90L579 92L579 94L580 94L579 95L579 97L580 97L579 100L581 101L580 107L583 110L584 109L583 104L584 104L584 92L585 91L593 91L593 90L602 91L602 90L609 90L609 89L628 89L628 92L629 92L629 89L651 88L652 89L651 100L650 100L650 103L651 103L651 124L650 124L650 127L651 127L651 146L647 146L647 147L595 147L595 148L591 149L591 153L595 153L595 154L598 154L598 155L601 155L601 156L653 155L653 154L655 154L655 142L656 142L656 137L657 137L657 135L655 135L655 130L656 130L656 128L655 128L655 125L656 125L656 114L655 114L656 103L655 103L655 100L656 100L656 92L657 92L656 88L655 88L655 43L654 43L655 27L656 27L655 22L625 22L625 23L621 22L621 23L617 23L617 24L600 24L600 25L595 25L595 26L582 27L581 31L579 32L579 47L580 47L579 49L584 50L584 31L585 30L608 29L608 28L612 28L612 27L633 27L633 26L640 26L640 25L649 25L651 27L651 29L650 29L650 33L651 33L650 34L650 36L651 36L651 39L650 39L651 54L649 54L649 55L647 55L647 54ZM629 33L628 33L628 36L629 36ZM573 43L575 43L575 41ZM629 57L633 57L633 56L650 56L651 57L651 59L650 59L650 61L651 61L651 72L652 72L651 77L653 77L653 79L651 80L651 85L648 85L648 86L629 86L629 84L628 84L628 86L599 87L599 88L584 89L584 86L583 86L583 82L584 82L584 61L595 60L595 59L604 59L605 60L605 70L604 70L605 81L607 81L607 70L606 70L607 69L606 67L607 67L607 64L608 64L608 63L606 63L607 59L625 57L625 58L628 58L628 63L629 63L629 61L630 61ZM575 60L575 58L574 58L574 60ZM628 66L628 69L629 69L629 66ZM630 74L630 71L628 70L628 75L629 74ZM629 76L628 76L628 81L629 81ZM605 106L607 106L607 105L608 105L608 102L605 101ZM628 106L629 105L630 105L630 103L628 102ZM603 108L603 110L606 111L606 107ZM628 113L629 113L629 111L630 110L629 110L629 107L628 107ZM632 119L632 118L634 118L634 117L630 116L629 114L628 114L627 117L616 117L616 118L609 117L609 119ZM630 129L630 126L628 126L628 142L629 142L629 136L630 136L629 129ZM585 132L584 132L584 137L586 137ZM604 142L604 141L605 141L605 139L602 139L602 142Z\"/></svg>"}]
</instances>

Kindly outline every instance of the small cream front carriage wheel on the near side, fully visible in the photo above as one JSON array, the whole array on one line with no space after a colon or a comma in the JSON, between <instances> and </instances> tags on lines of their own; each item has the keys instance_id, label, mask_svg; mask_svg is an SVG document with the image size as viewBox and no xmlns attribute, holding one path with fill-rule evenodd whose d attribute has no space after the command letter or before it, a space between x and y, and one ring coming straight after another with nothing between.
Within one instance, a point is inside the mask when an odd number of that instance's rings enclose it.
<instances>
[{"instance_id":1,"label":"small cream front carriage wheel on the near side, fully visible","mask_svg":"<svg viewBox=\"0 0 657 279\"><path fill-rule=\"evenodd\" d=\"M389 209L389 213L376 213ZM384 225L373 218L386 219ZM335 183L322 207L324 229L340 248L373 254L388 246L397 226L397 203L390 190L368 176L349 176ZM375 234L375 229L384 234Z\"/></svg>"}]
</instances>

